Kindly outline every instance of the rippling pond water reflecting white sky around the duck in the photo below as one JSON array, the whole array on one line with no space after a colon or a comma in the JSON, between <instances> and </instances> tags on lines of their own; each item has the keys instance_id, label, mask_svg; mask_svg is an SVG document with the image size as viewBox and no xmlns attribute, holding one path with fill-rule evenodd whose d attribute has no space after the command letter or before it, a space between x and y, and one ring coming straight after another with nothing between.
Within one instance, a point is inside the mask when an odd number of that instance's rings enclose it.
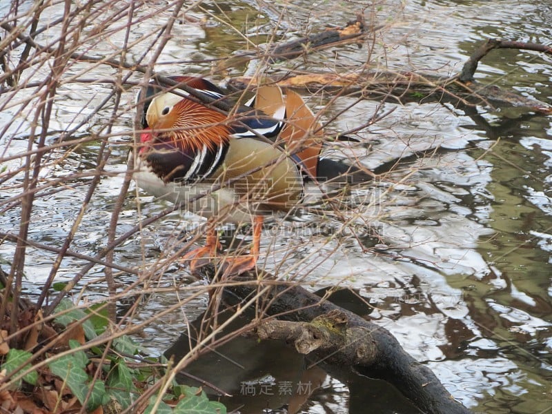
<instances>
[{"instance_id":1,"label":"rippling pond water reflecting white sky around the duck","mask_svg":"<svg viewBox=\"0 0 552 414\"><path fill-rule=\"evenodd\" d=\"M119 3L121 8L128 7ZM23 2L23 6L31 4ZM348 72L369 61L371 70L409 70L446 77L458 72L476 46L489 37L551 42L552 14L541 1L344 1L339 5L335 1L294 1L292 6L280 1L233 0L201 4L179 14L156 70L199 73L217 81L250 76L264 67L251 61L228 68L226 57L273 36L293 39L306 30L343 24L357 12L364 13L374 26L382 26L362 47L333 48L306 59L277 63L270 70L279 74L287 70ZM108 23L90 24L81 32L89 46L86 52L115 52L125 41L144 36L145 40L128 48L128 61L142 59L153 41L152 34L172 12L171 4L164 1L148 2L148 8L135 6L129 12L133 19L126 40L126 21L118 20L115 6L105 7L98 21ZM5 5L0 12L7 12ZM51 6L43 19L53 21L62 13L61 6ZM56 39L56 29L53 26L37 41ZM153 48L145 59L152 53ZM23 78L38 80L48 70L47 66L32 68ZM43 161L40 184L45 189L34 201L28 235L34 242L63 244L91 180L91 175L75 174L94 171L101 142L107 141L111 152L105 172L71 248L95 255L106 245L132 142L136 92L134 88L121 95L122 104L108 136L102 128L110 123L114 101L96 108L113 88L101 79L116 73L106 66L90 69L90 63L75 63L63 72L50 129L66 131L84 121L75 136L99 132L100 137L72 150L53 150ZM77 83L71 81L73 77L99 81ZM476 78L552 103L550 55L495 50L480 63ZM140 76L130 79L139 81ZM23 164L23 157L17 155L28 150L33 112L24 108L19 112L18 105L31 94L29 88L15 97L8 93L0 97L1 125L7 126L0 137L0 174ZM365 100L348 108L356 97L333 100L328 94L311 95L305 99L313 110L324 109L323 121L345 110L328 124L328 132L350 130L376 112L395 109L359 132L359 144L343 151L333 148L336 154L352 153L369 168L424 150L431 154L411 157L411 162L382 176L377 184L355 190L353 213L326 210L322 215L317 208L305 208L288 219L270 222L264 229L262 265L313 289L337 285L357 289L375 306L371 319L391 331L408 353L433 370L453 397L473 411L551 411L552 116L511 108L477 108L469 113L440 103L391 100L383 106ZM57 142L58 137L59 133L50 135L48 143ZM21 209L17 199L10 197L21 193L22 179L22 174L16 174L0 184L3 232L17 234ZM119 216L118 234L167 206L146 194L137 197L132 190ZM172 213L119 246L115 262L128 267L154 266L160 255L181 246L183 237L190 239L187 230L200 223L201 219L188 213ZM1 260L9 261L13 255L14 244L0 244ZM41 249L28 250L26 293L40 292L54 258ZM72 279L84 263L66 257L56 280ZM93 301L106 297L103 275L102 266L92 268L81 281L81 287L88 284L86 289L76 292L75 298L83 295L82 299ZM120 273L117 280L130 285L136 276ZM172 264L155 286L175 284L201 286L186 269ZM140 320L184 302L145 329L140 340L155 353L165 351L167 344L186 330L186 321L199 317L206 308L206 295L186 299L190 295L186 292L156 293L137 307ZM288 355L281 350L272 352ZM292 356L287 358L299 364ZM267 373L281 363L277 355L272 359ZM366 413L366 407L378 413L415 412L407 404L382 404L382 395L395 394L378 382L354 378L346 386L321 373L316 378L319 388L304 412ZM247 399L242 402L247 405Z\"/></svg>"}]
</instances>

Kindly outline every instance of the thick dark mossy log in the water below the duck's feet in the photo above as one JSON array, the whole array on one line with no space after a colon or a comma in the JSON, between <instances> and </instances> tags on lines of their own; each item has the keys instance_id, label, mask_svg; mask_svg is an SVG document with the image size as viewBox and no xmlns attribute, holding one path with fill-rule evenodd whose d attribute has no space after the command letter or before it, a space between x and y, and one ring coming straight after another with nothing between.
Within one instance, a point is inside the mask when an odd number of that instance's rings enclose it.
<instances>
[{"instance_id":1,"label":"thick dark mossy log in the water below the duck's feet","mask_svg":"<svg viewBox=\"0 0 552 414\"><path fill-rule=\"evenodd\" d=\"M206 266L211 269L211 266ZM208 272L212 276L212 272ZM301 286L277 284L273 276L257 269L259 275L233 277L227 293L242 301L254 296L266 280L269 293L259 306L269 318L256 328L260 339L285 339L299 353L339 379L359 373L393 384L404 397L424 413L471 413L446 391L435 374L417 362L385 328L368 322L351 311L321 299ZM264 286L263 286L264 287Z\"/></svg>"}]
</instances>

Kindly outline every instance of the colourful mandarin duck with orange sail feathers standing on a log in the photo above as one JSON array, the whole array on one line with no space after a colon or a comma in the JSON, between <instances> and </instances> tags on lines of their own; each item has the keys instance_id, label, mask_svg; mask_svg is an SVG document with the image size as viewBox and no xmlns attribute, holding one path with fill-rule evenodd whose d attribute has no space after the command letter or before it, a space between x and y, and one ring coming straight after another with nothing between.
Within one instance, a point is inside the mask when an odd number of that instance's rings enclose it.
<instances>
[{"instance_id":1,"label":"colourful mandarin duck with orange sail feathers standing on a log","mask_svg":"<svg viewBox=\"0 0 552 414\"><path fill-rule=\"evenodd\" d=\"M206 79L170 79L228 103ZM147 193L181 203L192 213L253 224L250 254L226 259L226 273L255 267L264 217L297 206L306 180L351 171L340 161L320 157L322 127L292 90L284 95L277 86L260 86L245 105L223 113L184 90L166 89L152 82L144 99L137 98L144 102L144 113L134 179ZM218 249L215 228L209 226L206 246L183 259L195 270L198 259L214 257Z\"/></svg>"}]
</instances>

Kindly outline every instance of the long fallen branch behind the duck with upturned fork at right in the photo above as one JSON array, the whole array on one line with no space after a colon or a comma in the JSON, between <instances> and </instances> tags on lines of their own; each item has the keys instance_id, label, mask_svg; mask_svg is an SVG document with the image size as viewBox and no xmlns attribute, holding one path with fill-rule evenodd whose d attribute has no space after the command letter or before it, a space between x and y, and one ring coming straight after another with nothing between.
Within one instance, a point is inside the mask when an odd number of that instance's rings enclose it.
<instances>
[{"instance_id":1,"label":"long fallen branch behind the duck with upturned fork at right","mask_svg":"<svg viewBox=\"0 0 552 414\"><path fill-rule=\"evenodd\" d=\"M487 86L473 79L477 63L494 49L517 48L535 50L552 54L549 46L518 41L489 39L473 52L464 63L462 71L453 77L440 77L431 74L413 72L382 72L364 70L359 73L340 75L337 73L319 73L294 75L283 78L273 77L268 81L286 88L338 91L341 94L357 93L371 99L394 99L400 103L451 102L455 106L501 107L515 106L534 112L551 113L552 107L542 101L518 95L515 92L501 90L497 86ZM233 90L255 86L267 79L237 78L229 81Z\"/></svg>"}]
</instances>

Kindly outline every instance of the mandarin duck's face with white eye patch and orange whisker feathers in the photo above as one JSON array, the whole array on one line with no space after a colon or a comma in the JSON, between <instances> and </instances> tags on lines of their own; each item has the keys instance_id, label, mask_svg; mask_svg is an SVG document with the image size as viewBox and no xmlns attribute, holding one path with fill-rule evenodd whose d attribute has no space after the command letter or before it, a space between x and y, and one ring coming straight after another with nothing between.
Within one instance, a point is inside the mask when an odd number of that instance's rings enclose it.
<instances>
[{"instance_id":1,"label":"mandarin duck's face with white eye patch and orange whisker feathers","mask_svg":"<svg viewBox=\"0 0 552 414\"><path fill-rule=\"evenodd\" d=\"M152 99L146 119L153 146L157 141L181 150L215 150L230 135L226 115L170 92Z\"/></svg>"}]
</instances>

